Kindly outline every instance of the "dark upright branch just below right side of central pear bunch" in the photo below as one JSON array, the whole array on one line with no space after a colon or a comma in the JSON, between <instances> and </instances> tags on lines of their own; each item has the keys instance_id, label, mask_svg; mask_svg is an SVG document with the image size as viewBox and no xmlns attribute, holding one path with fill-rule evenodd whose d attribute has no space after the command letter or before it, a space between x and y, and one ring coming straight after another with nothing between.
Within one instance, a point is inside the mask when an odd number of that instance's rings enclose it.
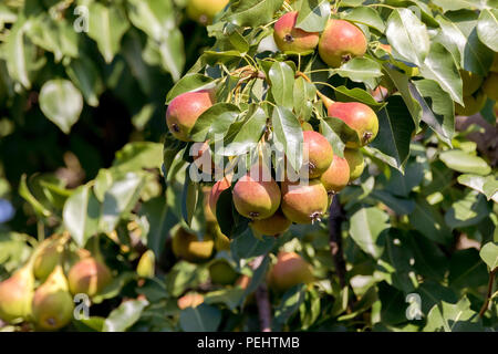
<instances>
[{"instance_id":1,"label":"dark upright branch just below right side of central pear bunch","mask_svg":"<svg viewBox=\"0 0 498 354\"><path fill-rule=\"evenodd\" d=\"M345 261L344 254L342 251L342 237L341 237L341 223L344 219L342 214L341 204L339 202L339 196L334 195L332 199L332 204L330 206L330 215L329 215L329 232L330 232L330 252L332 253L332 258L335 264L335 272L339 277L339 283L341 288L346 285L345 281Z\"/></svg>"}]
</instances>

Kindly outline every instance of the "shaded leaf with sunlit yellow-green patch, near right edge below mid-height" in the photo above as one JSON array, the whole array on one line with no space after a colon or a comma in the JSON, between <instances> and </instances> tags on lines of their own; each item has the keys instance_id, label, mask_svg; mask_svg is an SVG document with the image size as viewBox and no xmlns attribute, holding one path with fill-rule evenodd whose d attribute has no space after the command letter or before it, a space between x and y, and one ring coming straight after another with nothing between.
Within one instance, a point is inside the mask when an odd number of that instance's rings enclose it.
<instances>
[{"instance_id":1,"label":"shaded leaf with sunlit yellow-green patch, near right edge below mid-height","mask_svg":"<svg viewBox=\"0 0 498 354\"><path fill-rule=\"evenodd\" d=\"M446 211L445 221L450 228L463 228L479 223L490 212L483 195L469 190Z\"/></svg>"}]
</instances>

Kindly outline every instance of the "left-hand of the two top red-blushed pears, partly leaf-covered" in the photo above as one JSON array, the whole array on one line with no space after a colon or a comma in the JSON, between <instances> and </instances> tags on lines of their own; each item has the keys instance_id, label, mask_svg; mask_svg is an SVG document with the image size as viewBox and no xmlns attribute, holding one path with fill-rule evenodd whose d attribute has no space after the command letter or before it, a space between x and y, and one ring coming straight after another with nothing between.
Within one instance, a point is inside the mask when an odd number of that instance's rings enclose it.
<instances>
[{"instance_id":1,"label":"left-hand of the two top red-blushed pears, partly leaf-covered","mask_svg":"<svg viewBox=\"0 0 498 354\"><path fill-rule=\"evenodd\" d=\"M282 52L308 53L313 51L319 42L318 32L307 32L295 28L298 12L288 12L274 23L273 38Z\"/></svg>"}]
</instances>

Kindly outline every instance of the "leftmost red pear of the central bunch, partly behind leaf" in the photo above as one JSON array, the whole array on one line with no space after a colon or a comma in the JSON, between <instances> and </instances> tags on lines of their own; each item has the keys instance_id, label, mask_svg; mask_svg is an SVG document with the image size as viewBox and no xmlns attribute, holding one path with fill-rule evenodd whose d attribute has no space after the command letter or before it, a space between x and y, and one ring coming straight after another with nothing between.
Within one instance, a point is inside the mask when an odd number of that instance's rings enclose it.
<instances>
[{"instance_id":1,"label":"leftmost red pear of the central bunch, partly behind leaf","mask_svg":"<svg viewBox=\"0 0 498 354\"><path fill-rule=\"evenodd\" d=\"M166 111L166 124L178 140L190 142L190 131L197 118L215 102L211 91L183 93L169 103Z\"/></svg>"}]
</instances>

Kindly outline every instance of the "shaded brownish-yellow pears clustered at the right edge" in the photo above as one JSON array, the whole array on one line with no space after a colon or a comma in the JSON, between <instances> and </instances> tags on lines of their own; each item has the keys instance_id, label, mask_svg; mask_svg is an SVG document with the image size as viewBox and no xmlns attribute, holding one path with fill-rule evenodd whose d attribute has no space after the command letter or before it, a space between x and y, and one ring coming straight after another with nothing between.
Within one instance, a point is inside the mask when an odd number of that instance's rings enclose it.
<instances>
[{"instance_id":1,"label":"shaded brownish-yellow pears clustered at the right edge","mask_svg":"<svg viewBox=\"0 0 498 354\"><path fill-rule=\"evenodd\" d=\"M460 70L460 76L464 90L464 106L455 103L456 114L468 116L480 112L487 97L498 101L498 53L495 53L495 59L486 77L466 70Z\"/></svg>"}]
</instances>

